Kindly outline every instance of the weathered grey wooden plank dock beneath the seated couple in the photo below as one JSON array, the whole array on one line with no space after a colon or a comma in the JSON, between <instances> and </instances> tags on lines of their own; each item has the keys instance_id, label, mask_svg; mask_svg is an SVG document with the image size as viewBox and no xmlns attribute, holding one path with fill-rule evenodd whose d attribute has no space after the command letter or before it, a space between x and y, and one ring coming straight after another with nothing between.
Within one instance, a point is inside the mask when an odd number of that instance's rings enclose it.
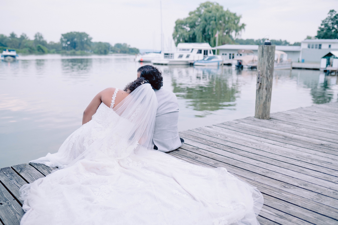
<instances>
[{"instance_id":1,"label":"weathered grey wooden plank dock beneath the seated couple","mask_svg":"<svg viewBox=\"0 0 338 225\"><path fill-rule=\"evenodd\" d=\"M264 196L261 225L338 224L338 103L247 117L180 132L172 156L225 167ZM0 220L19 224L22 185L55 168L20 164L0 171Z\"/></svg>"}]
</instances>

